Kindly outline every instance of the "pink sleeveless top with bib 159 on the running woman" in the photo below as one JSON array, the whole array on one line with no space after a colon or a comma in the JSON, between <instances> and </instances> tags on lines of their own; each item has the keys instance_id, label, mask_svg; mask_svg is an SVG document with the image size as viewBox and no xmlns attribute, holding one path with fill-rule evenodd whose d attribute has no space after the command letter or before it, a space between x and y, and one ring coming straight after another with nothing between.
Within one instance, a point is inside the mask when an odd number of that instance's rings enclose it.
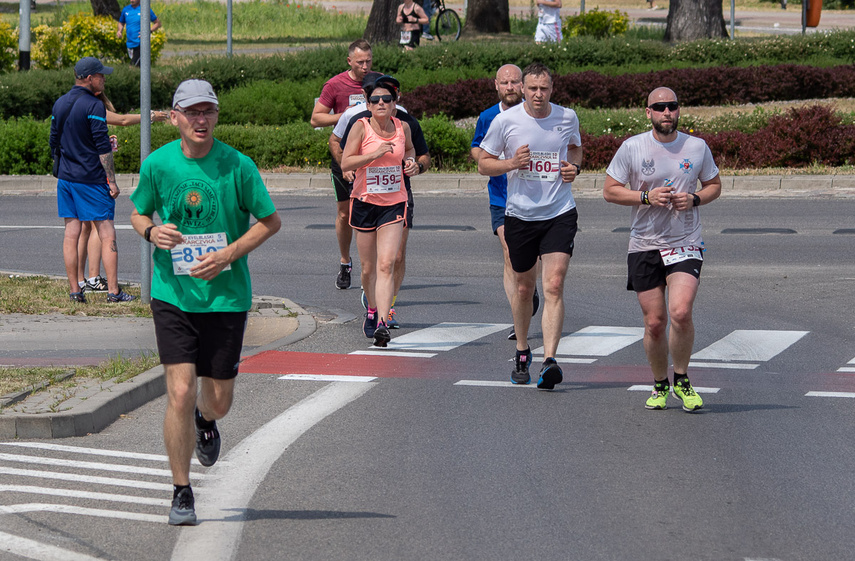
<instances>
[{"instance_id":1,"label":"pink sleeveless top with bib 159 on the running woman","mask_svg":"<svg viewBox=\"0 0 855 561\"><path fill-rule=\"evenodd\" d=\"M392 117L395 124L395 136L383 138L371 128L368 117L360 119L365 128L362 146L359 153L373 152L384 142L392 141L395 148L388 154L383 154L367 166L356 170L353 180L353 191L350 198L359 199L364 203L378 206L392 206L407 200L407 190L404 187L404 154L407 150L407 137L401 121Z\"/></svg>"}]
</instances>

